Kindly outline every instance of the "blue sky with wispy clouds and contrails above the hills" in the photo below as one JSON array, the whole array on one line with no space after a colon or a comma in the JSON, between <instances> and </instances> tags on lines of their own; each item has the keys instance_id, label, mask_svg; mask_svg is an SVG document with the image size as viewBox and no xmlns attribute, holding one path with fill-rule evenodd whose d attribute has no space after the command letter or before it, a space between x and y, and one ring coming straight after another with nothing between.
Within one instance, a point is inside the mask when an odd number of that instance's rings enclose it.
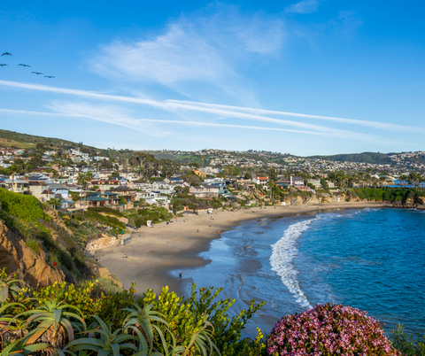
<instances>
[{"instance_id":1,"label":"blue sky with wispy clouds and contrails above the hills","mask_svg":"<svg viewBox=\"0 0 425 356\"><path fill-rule=\"evenodd\" d=\"M0 128L132 150L424 151L424 11L3 2Z\"/></svg>"}]
</instances>

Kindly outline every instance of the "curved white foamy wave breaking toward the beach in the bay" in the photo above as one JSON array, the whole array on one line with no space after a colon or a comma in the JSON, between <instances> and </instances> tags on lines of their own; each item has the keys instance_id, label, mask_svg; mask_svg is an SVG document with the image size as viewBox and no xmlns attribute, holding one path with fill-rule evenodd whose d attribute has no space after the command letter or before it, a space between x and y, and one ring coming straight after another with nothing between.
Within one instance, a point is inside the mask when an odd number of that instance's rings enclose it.
<instances>
[{"instance_id":1,"label":"curved white foamy wave breaking toward the beach in the bay","mask_svg":"<svg viewBox=\"0 0 425 356\"><path fill-rule=\"evenodd\" d=\"M298 237L310 228L309 225L312 221L300 221L290 225L282 238L277 243L272 244L272 256L270 257L272 270L281 277L283 284L290 290L296 301L305 308L312 308L313 306L299 286L298 270L294 266L294 259L298 255Z\"/></svg>"}]
</instances>

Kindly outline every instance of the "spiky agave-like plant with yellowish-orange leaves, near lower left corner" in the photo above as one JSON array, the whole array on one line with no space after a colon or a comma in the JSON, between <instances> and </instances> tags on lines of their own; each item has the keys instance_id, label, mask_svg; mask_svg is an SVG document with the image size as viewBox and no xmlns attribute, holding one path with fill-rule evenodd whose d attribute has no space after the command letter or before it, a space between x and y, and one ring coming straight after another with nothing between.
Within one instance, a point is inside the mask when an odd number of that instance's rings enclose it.
<instances>
[{"instance_id":1,"label":"spiky agave-like plant with yellowish-orange leaves, near lower left corner","mask_svg":"<svg viewBox=\"0 0 425 356\"><path fill-rule=\"evenodd\" d=\"M72 313L68 310L75 310ZM69 341L74 339L74 329L81 331L86 329L86 323L81 316L81 312L75 306L69 306L58 303L56 301L42 301L42 306L37 309L28 310L19 313L13 318L31 315L26 321L26 328L30 329L31 325L38 323L35 330L27 339L28 344L34 344L36 341L48 342L52 347L62 347L66 344L66 338ZM76 321L73 321L76 320Z\"/></svg>"}]
</instances>

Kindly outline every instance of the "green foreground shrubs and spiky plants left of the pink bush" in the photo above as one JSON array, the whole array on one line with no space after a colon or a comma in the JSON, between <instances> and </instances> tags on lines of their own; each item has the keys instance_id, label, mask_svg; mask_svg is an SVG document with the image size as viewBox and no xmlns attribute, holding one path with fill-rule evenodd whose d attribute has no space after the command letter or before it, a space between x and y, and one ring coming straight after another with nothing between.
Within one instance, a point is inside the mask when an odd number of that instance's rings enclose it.
<instances>
[{"instance_id":1,"label":"green foreground shrubs and spiky plants left of the pink bush","mask_svg":"<svg viewBox=\"0 0 425 356\"><path fill-rule=\"evenodd\" d=\"M4 270L0 279L7 279ZM251 300L248 310L230 317L228 309L235 300L220 300L221 289L197 291L194 285L190 298L166 288L157 298L147 290L136 299L134 285L98 295L95 282L55 283L39 290L12 279L9 284L13 289L0 308L0 332L7 331L1 344L5 354L265 354L260 331L255 340L241 339L246 322L264 303Z\"/></svg>"}]
</instances>

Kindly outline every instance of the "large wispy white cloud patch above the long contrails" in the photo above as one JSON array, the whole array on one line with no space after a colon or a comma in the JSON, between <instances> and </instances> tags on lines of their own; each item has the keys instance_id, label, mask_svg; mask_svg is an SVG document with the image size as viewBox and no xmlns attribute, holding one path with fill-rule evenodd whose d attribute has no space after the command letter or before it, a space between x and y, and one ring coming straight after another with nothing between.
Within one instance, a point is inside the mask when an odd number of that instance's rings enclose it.
<instances>
[{"instance_id":1,"label":"large wispy white cloud patch above the long contrails","mask_svg":"<svg viewBox=\"0 0 425 356\"><path fill-rule=\"evenodd\" d=\"M159 83L187 97L224 91L251 101L238 63L276 55L282 48L282 21L261 14L246 17L232 6L207 10L174 20L149 39L104 45L89 66L109 79Z\"/></svg>"}]
</instances>

